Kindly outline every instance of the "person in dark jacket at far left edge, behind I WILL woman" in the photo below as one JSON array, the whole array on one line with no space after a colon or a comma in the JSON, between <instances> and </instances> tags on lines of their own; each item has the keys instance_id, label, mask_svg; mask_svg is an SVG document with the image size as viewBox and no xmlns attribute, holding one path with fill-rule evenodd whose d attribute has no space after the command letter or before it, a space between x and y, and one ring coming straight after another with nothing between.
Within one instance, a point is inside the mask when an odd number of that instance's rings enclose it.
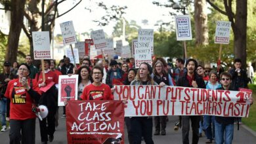
<instances>
[{"instance_id":1,"label":"person in dark jacket at far left edge, behind I WILL woman","mask_svg":"<svg viewBox=\"0 0 256 144\"><path fill-rule=\"evenodd\" d=\"M7 84L14 79L16 74L11 73L11 63L6 61L3 63L3 73L0 74L0 122L2 125L1 132L7 130L7 122L5 115L7 113L7 98L5 98L5 92L7 90Z\"/></svg>"}]
</instances>

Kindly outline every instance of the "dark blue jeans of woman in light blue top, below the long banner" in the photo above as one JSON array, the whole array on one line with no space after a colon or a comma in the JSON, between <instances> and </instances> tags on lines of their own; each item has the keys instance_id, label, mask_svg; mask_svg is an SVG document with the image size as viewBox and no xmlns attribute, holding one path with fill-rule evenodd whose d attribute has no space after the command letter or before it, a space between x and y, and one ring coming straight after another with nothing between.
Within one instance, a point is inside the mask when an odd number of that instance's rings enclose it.
<instances>
[{"instance_id":1,"label":"dark blue jeans of woman in light blue top, below the long banner","mask_svg":"<svg viewBox=\"0 0 256 144\"><path fill-rule=\"evenodd\" d=\"M203 130L205 130L205 135L207 139L213 139L215 137L215 117L211 115L203 116ZM213 128L211 128L213 126Z\"/></svg>"}]
</instances>

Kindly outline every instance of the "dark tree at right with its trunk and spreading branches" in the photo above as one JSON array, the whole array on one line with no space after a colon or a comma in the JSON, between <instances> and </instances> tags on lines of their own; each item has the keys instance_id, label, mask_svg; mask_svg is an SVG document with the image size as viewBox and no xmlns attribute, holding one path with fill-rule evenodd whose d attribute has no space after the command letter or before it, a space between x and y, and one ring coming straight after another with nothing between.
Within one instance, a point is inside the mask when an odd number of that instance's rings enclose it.
<instances>
[{"instance_id":1,"label":"dark tree at right with its trunk and spreading branches","mask_svg":"<svg viewBox=\"0 0 256 144\"><path fill-rule=\"evenodd\" d=\"M236 13L232 10L232 0L223 0L224 10L216 5L216 2L206 0L211 7L228 17L234 33L234 57L242 60L242 66L246 67L246 42L247 42L247 0L236 0Z\"/></svg>"}]
</instances>

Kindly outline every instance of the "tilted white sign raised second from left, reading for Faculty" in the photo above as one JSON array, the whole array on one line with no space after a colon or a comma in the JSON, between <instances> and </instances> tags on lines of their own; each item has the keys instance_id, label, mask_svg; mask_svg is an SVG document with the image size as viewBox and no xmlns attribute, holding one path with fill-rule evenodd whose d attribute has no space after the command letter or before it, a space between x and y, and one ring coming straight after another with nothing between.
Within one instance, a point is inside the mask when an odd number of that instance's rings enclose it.
<instances>
[{"instance_id":1,"label":"tilted white sign raised second from left, reading for Faculty","mask_svg":"<svg viewBox=\"0 0 256 144\"><path fill-rule=\"evenodd\" d=\"M71 45L77 43L77 39L75 37L75 29L72 21L61 23L60 29L62 32L64 45Z\"/></svg>"}]
</instances>

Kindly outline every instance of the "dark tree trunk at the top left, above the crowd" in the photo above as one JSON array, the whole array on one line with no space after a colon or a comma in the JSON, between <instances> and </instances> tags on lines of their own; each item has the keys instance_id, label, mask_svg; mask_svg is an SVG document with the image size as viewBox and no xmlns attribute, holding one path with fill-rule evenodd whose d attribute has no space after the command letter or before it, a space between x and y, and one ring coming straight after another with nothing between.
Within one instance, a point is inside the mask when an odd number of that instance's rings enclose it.
<instances>
[{"instance_id":1,"label":"dark tree trunk at the top left, above the crowd","mask_svg":"<svg viewBox=\"0 0 256 144\"><path fill-rule=\"evenodd\" d=\"M18 42L24 18L26 0L11 0L11 26L8 37L6 60L11 63L17 60Z\"/></svg>"}]
</instances>

